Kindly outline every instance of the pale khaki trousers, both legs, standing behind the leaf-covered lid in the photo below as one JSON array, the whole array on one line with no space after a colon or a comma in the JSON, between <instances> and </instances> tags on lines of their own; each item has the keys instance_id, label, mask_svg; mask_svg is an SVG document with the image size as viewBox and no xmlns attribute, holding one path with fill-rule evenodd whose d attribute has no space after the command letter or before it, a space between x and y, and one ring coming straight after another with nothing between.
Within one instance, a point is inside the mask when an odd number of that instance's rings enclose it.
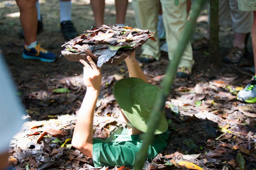
<instances>
[{"instance_id":1,"label":"pale khaki trousers, both legs, standing behind the leaf-covered lid","mask_svg":"<svg viewBox=\"0 0 256 170\"><path fill-rule=\"evenodd\" d=\"M163 11L164 29L166 42L168 44L168 56L172 60L172 54L177 47L181 37L184 24L187 21L186 0L160 0ZM157 35L158 22L158 1L157 0L132 0L135 12L135 20L139 29L149 29L156 33L154 36L157 42L148 40L142 49L142 54L152 55L157 60L160 57L159 38ZM189 42L179 63L179 67L192 68L195 61L191 43Z\"/></svg>"}]
</instances>

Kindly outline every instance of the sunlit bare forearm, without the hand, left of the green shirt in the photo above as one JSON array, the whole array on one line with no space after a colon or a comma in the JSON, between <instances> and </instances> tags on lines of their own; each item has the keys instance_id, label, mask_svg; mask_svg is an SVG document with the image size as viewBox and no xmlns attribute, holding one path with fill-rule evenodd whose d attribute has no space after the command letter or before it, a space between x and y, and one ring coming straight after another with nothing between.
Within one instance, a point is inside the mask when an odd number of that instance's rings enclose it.
<instances>
[{"instance_id":1,"label":"sunlit bare forearm, without the hand, left of the green shirt","mask_svg":"<svg viewBox=\"0 0 256 170\"><path fill-rule=\"evenodd\" d=\"M74 128L72 145L92 158L93 117L99 90L87 89Z\"/></svg>"}]
</instances>

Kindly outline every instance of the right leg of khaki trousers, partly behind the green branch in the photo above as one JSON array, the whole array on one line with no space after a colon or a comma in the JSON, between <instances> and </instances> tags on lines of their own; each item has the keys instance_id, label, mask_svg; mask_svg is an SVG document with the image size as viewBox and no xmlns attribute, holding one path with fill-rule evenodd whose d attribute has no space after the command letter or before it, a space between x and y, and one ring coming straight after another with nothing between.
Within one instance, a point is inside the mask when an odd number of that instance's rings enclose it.
<instances>
[{"instance_id":1,"label":"right leg of khaki trousers, partly behind the green branch","mask_svg":"<svg viewBox=\"0 0 256 170\"><path fill-rule=\"evenodd\" d=\"M182 30L187 21L187 2L186 0L160 0L160 2L163 10L168 56L172 60L172 54L177 48L179 39L182 36ZM180 60L179 67L192 68L194 63L192 47L189 41Z\"/></svg>"}]
</instances>

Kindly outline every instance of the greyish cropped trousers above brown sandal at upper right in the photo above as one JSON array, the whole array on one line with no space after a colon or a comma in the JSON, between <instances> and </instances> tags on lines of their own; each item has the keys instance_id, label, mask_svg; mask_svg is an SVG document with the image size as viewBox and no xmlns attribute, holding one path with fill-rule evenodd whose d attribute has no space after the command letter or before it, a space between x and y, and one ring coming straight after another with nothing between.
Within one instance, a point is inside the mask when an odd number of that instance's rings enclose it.
<instances>
[{"instance_id":1,"label":"greyish cropped trousers above brown sandal at upper right","mask_svg":"<svg viewBox=\"0 0 256 170\"><path fill-rule=\"evenodd\" d=\"M232 25L235 33L250 33L252 28L252 11L238 9L237 0L219 0L220 25Z\"/></svg>"}]
</instances>

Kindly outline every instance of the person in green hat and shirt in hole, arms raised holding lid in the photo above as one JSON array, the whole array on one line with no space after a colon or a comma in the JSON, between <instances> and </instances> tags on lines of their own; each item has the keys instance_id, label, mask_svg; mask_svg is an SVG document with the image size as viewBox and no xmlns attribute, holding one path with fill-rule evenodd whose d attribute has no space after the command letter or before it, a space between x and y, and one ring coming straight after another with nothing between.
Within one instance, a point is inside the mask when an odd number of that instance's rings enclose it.
<instances>
[{"instance_id":1,"label":"person in green hat and shirt in hole, arms raised holding lid","mask_svg":"<svg viewBox=\"0 0 256 170\"><path fill-rule=\"evenodd\" d=\"M140 137L148 129L147 121L160 89L147 83L146 76L134 58L135 52L125 59L130 77L117 81L113 87L114 96L119 104L118 119L127 124L128 128L124 129L121 135L115 135L115 140L110 142L93 138L93 117L102 79L101 68L98 68L89 56L89 64L80 60L84 64L83 80L87 91L74 128L72 146L92 158L95 167L132 167L142 146ZM159 116L159 125L148 150L149 159L154 158L167 146L169 132L164 110Z\"/></svg>"}]
</instances>

